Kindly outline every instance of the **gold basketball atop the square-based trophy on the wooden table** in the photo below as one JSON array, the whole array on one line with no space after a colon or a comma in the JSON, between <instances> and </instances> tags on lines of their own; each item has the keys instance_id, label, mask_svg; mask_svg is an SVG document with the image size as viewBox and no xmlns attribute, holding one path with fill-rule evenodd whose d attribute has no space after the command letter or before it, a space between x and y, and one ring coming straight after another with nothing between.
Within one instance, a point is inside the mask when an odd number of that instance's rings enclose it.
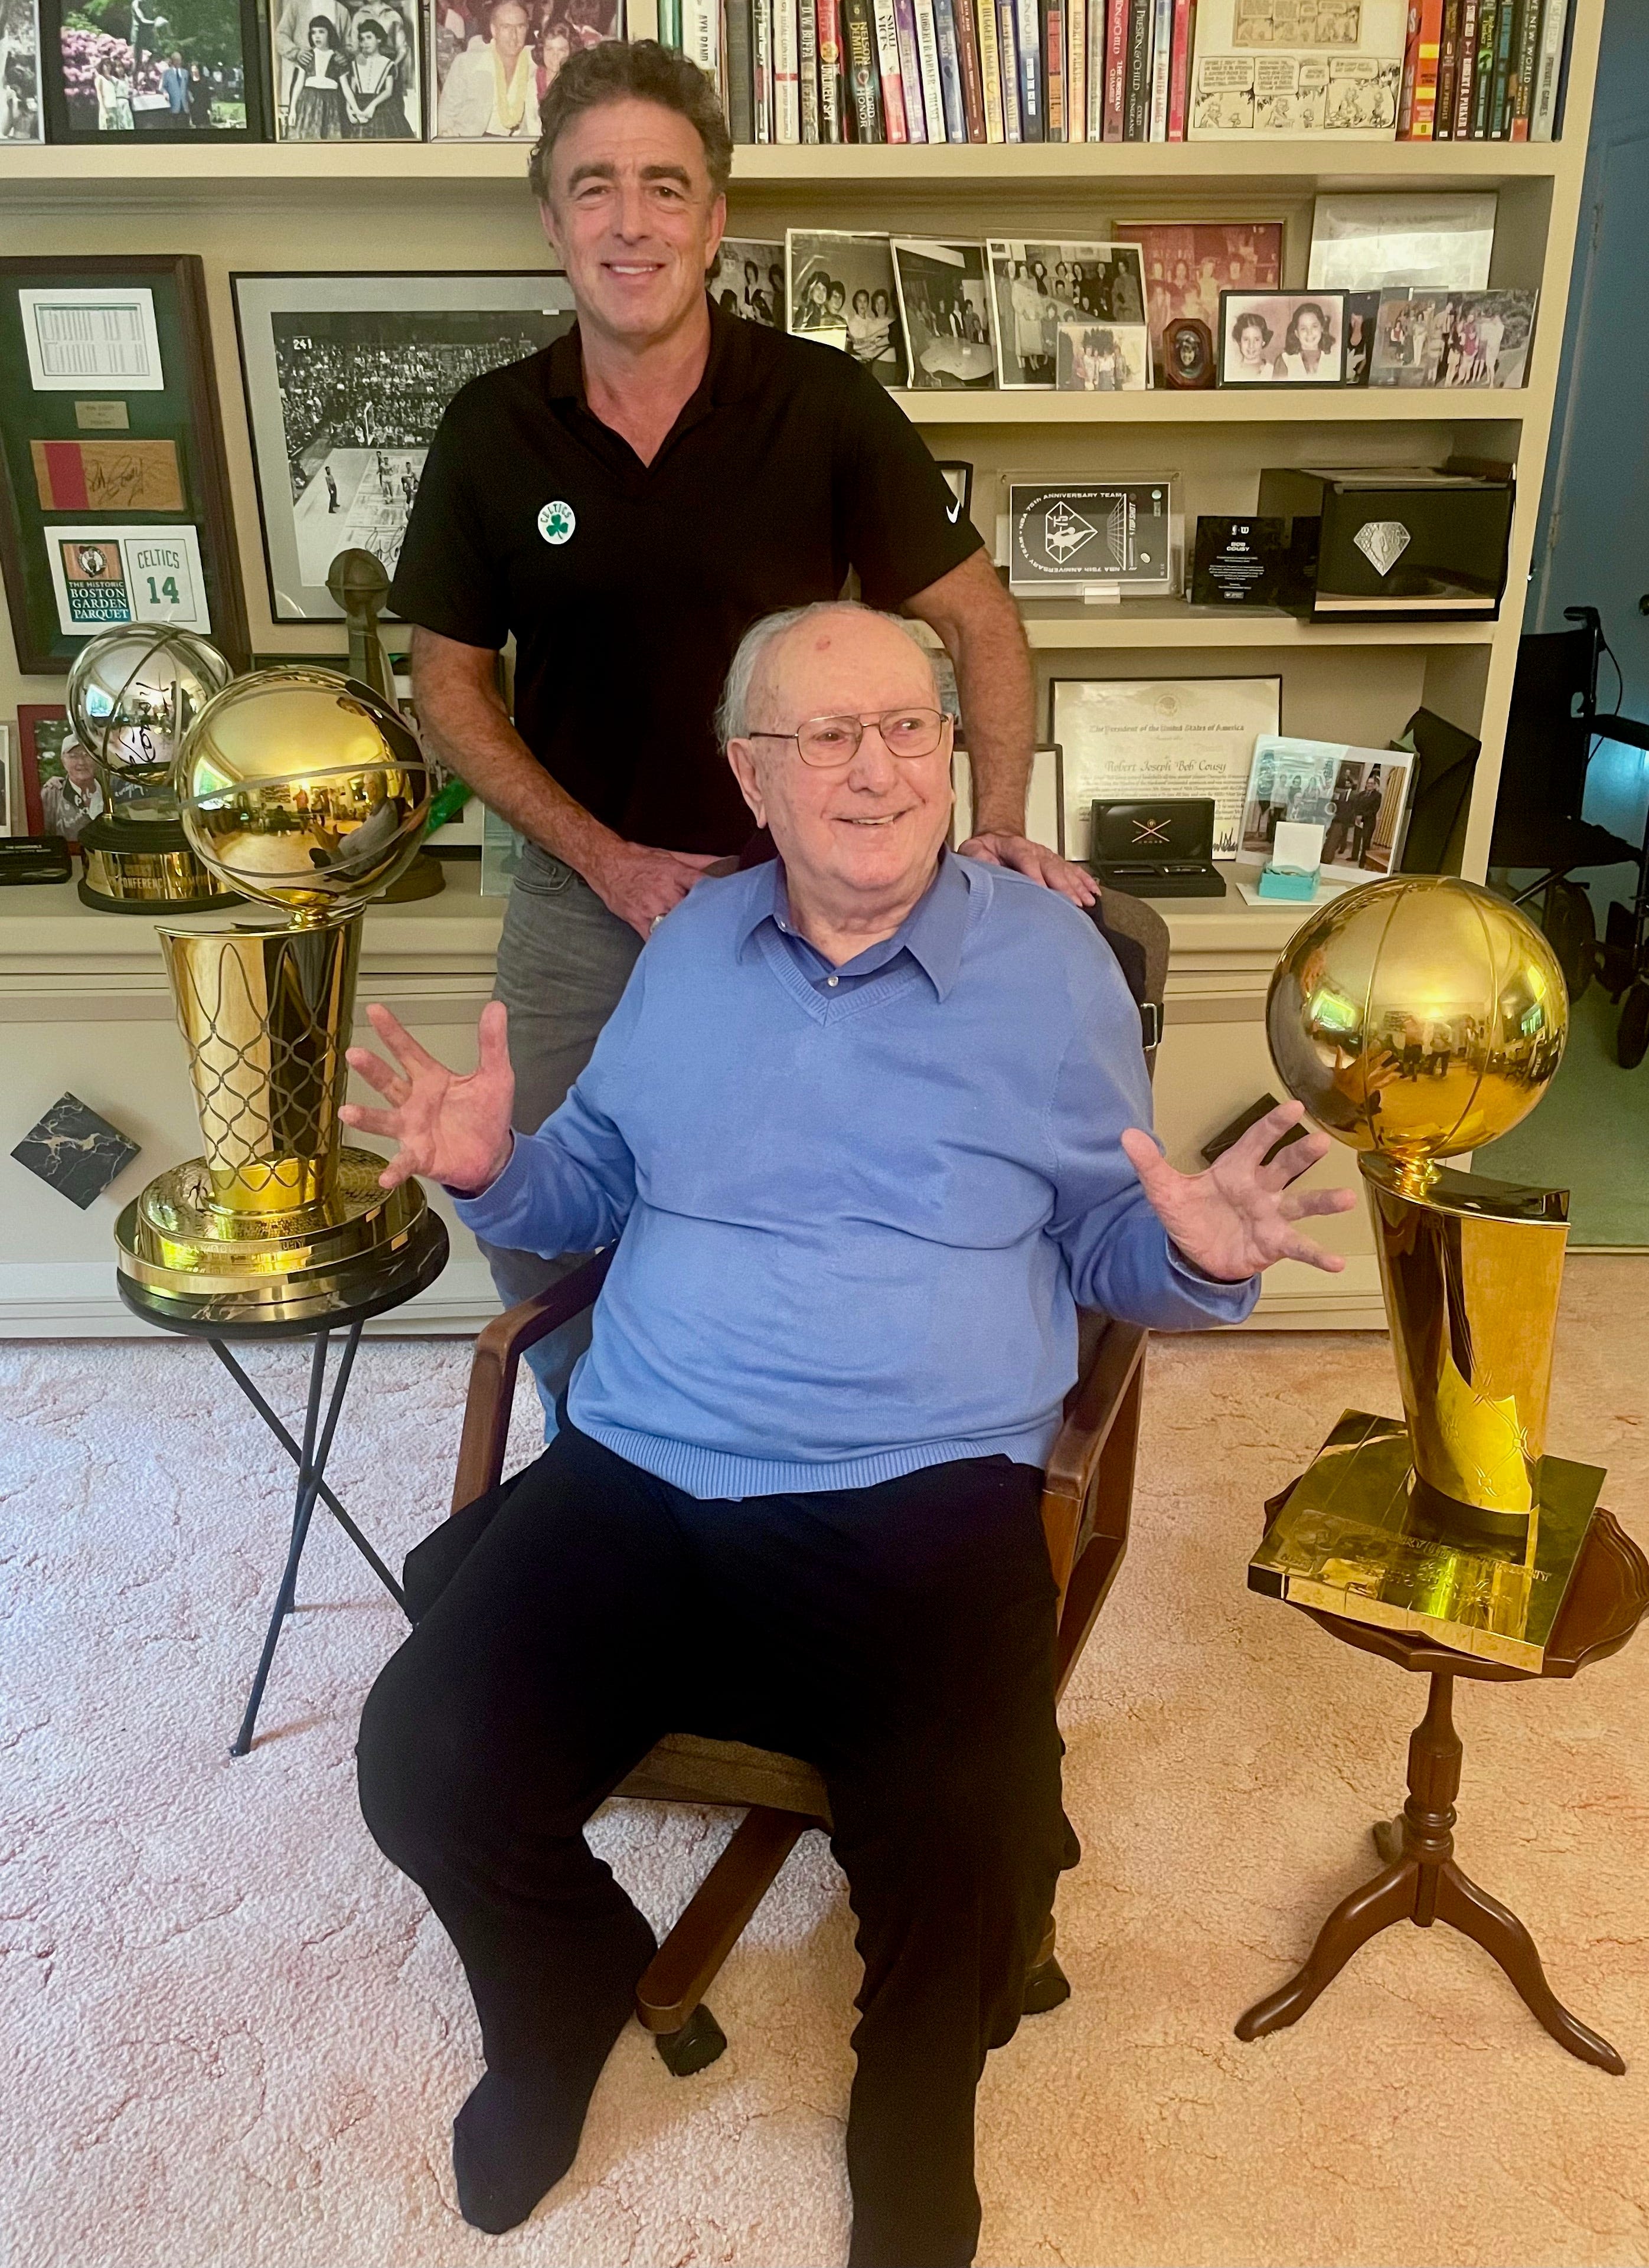
<instances>
[{"instance_id":1,"label":"gold basketball atop the square-based trophy on the wooden table","mask_svg":"<svg viewBox=\"0 0 1649 2268\"><path fill-rule=\"evenodd\" d=\"M1266 1036L1288 1093L1336 1141L1422 1186L1431 1161L1524 1118L1563 1059L1570 998L1540 930L1452 875L1331 898L1288 943Z\"/></svg>"}]
</instances>

